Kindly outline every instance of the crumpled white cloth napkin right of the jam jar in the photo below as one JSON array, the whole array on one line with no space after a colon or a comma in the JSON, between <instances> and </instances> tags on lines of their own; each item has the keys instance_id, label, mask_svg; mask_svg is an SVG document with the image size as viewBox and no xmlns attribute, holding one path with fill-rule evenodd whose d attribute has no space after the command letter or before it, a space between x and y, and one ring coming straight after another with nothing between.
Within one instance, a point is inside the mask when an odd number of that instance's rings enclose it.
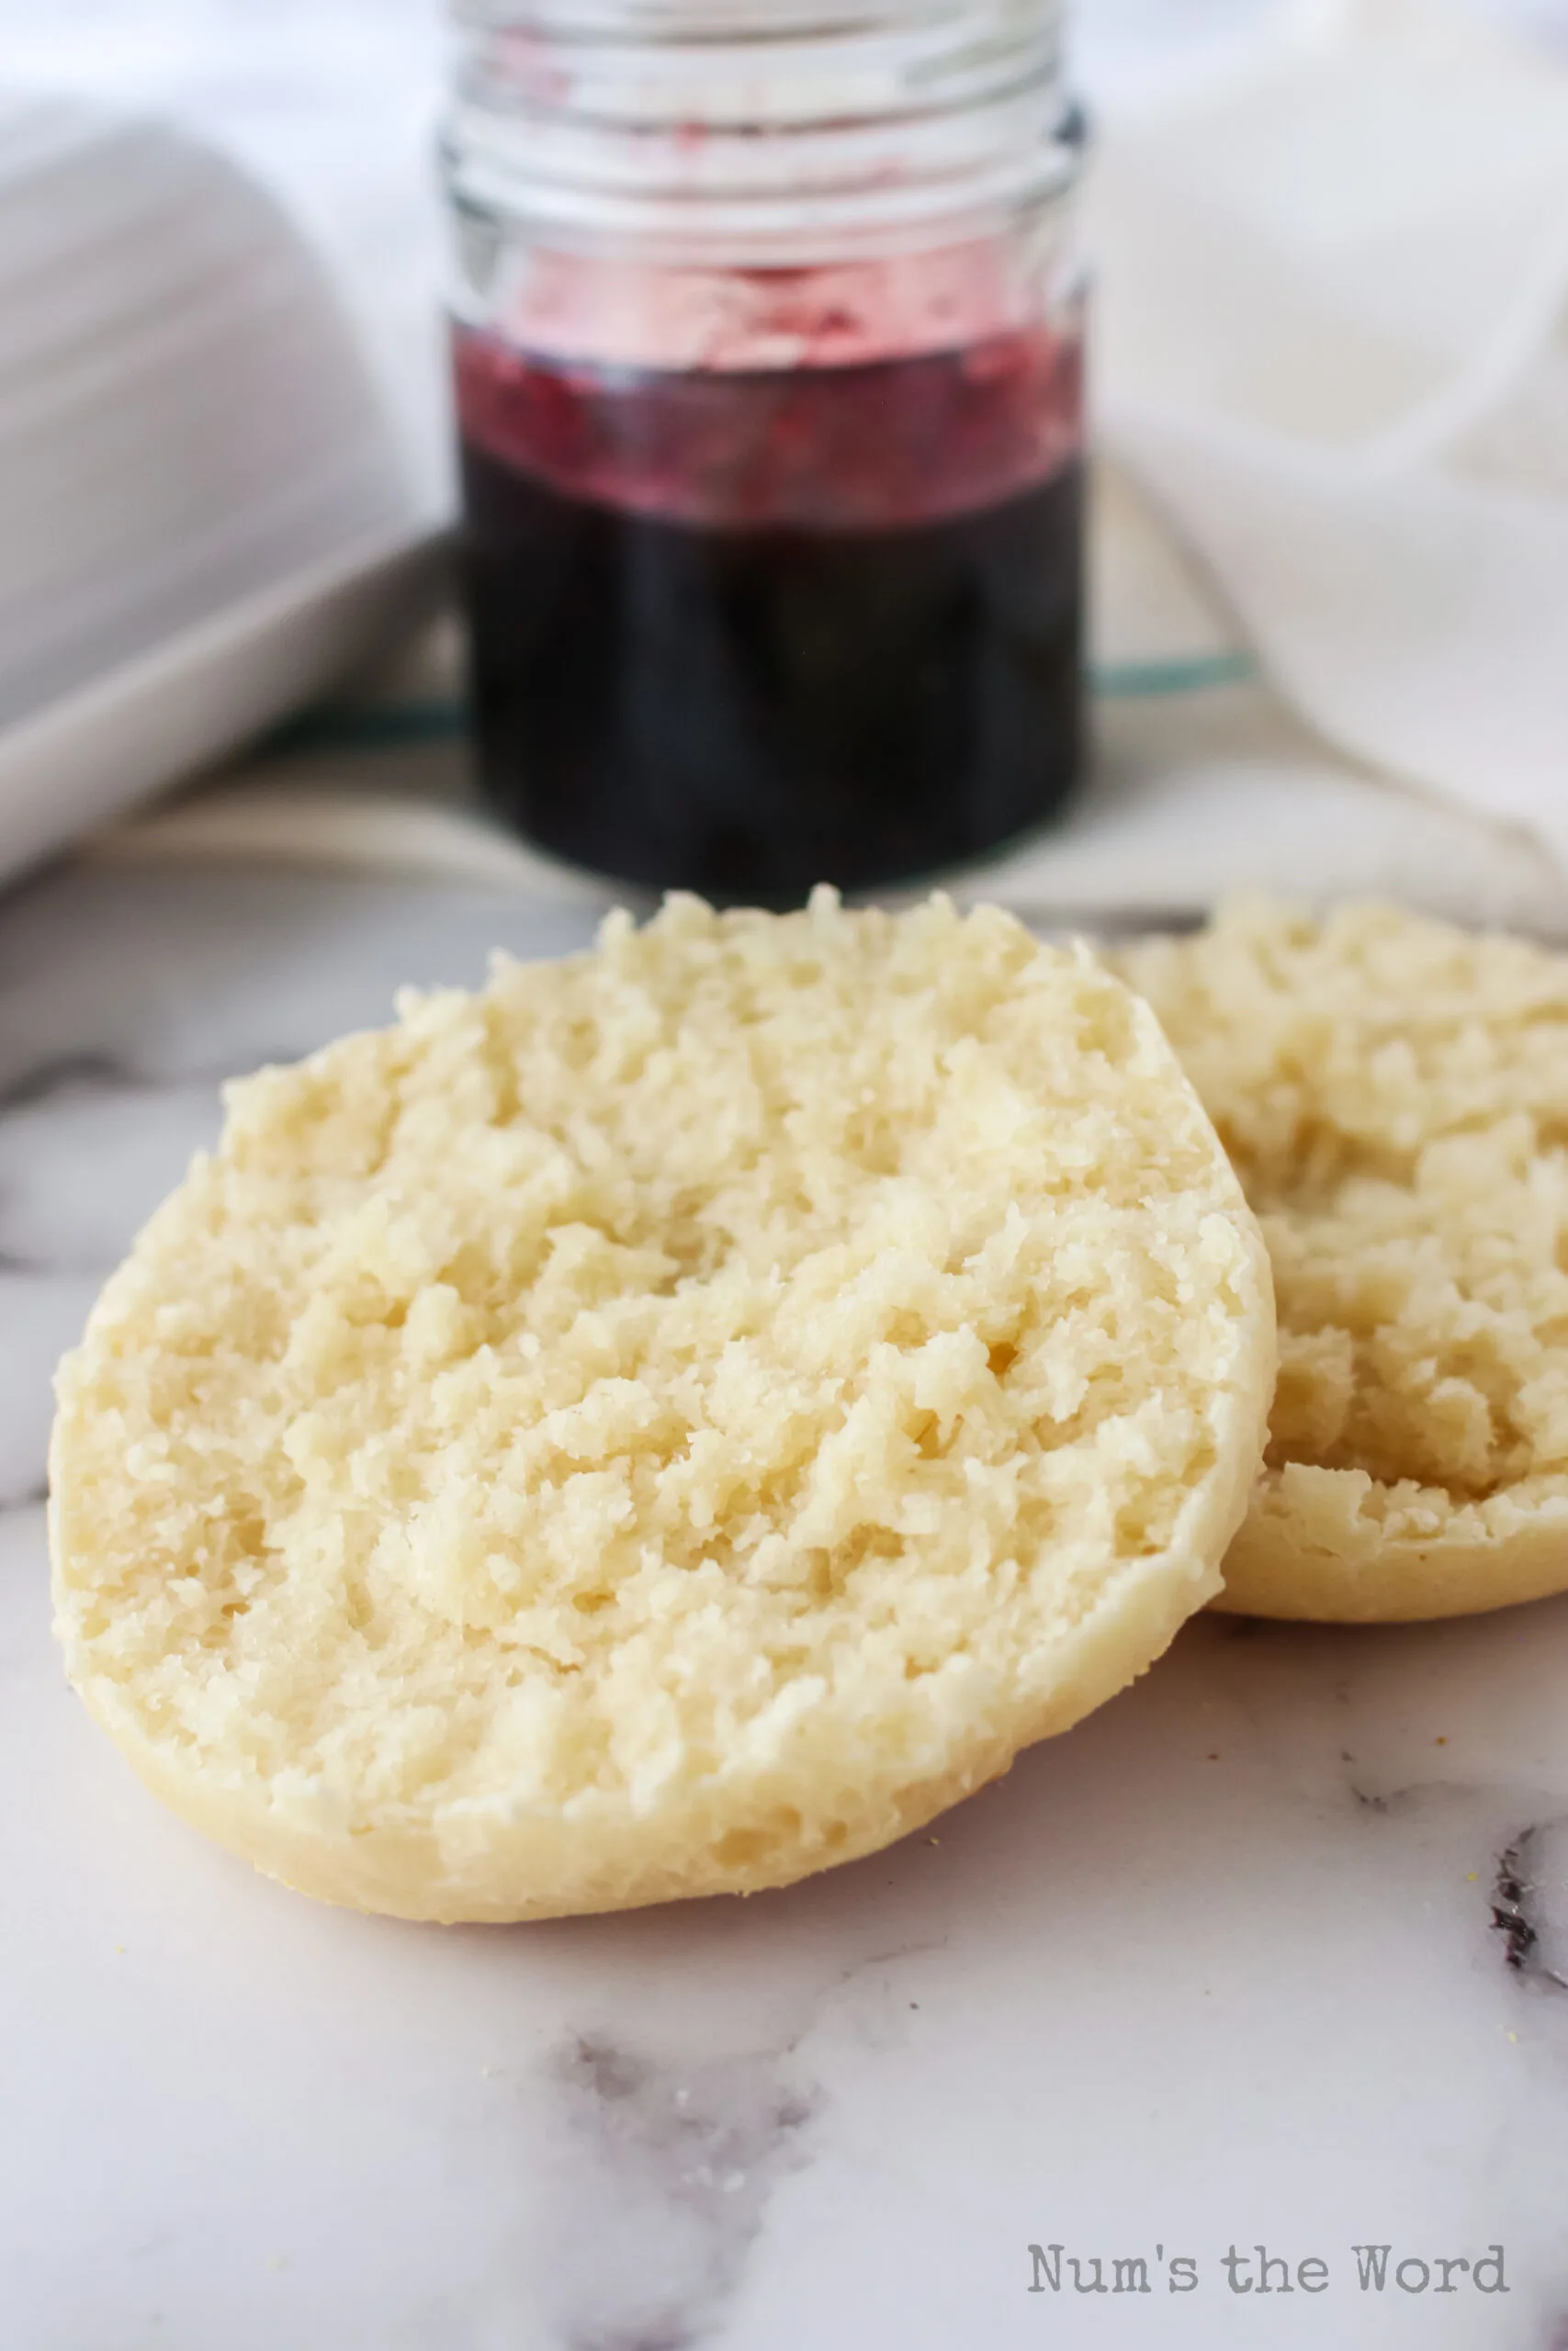
<instances>
[{"instance_id":1,"label":"crumpled white cloth napkin right of the jam jar","mask_svg":"<svg viewBox=\"0 0 1568 2351\"><path fill-rule=\"evenodd\" d=\"M1105 127L1100 433L1331 743L1568 860L1568 68L1286 19Z\"/></svg>"}]
</instances>

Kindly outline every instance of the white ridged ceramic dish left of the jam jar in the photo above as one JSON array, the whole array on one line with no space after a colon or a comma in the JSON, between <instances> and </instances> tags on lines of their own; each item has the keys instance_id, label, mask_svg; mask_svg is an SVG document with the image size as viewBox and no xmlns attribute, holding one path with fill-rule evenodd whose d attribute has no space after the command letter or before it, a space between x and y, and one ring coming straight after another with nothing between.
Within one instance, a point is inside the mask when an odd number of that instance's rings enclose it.
<instances>
[{"instance_id":1,"label":"white ridged ceramic dish left of the jam jar","mask_svg":"<svg viewBox=\"0 0 1568 2351\"><path fill-rule=\"evenodd\" d=\"M0 99L0 877L411 621L437 543L273 197L174 127Z\"/></svg>"}]
</instances>

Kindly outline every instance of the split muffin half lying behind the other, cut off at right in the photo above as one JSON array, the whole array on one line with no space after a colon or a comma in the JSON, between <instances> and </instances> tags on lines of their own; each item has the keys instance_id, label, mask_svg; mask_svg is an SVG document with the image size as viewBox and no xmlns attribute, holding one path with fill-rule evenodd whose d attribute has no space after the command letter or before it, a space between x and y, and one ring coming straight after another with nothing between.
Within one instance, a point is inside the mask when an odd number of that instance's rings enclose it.
<instances>
[{"instance_id":1,"label":"split muffin half lying behind the other, cut off at right","mask_svg":"<svg viewBox=\"0 0 1568 2351\"><path fill-rule=\"evenodd\" d=\"M1237 900L1119 969L1258 1211L1279 1389L1222 1606L1568 1589L1568 957Z\"/></svg>"}]
</instances>

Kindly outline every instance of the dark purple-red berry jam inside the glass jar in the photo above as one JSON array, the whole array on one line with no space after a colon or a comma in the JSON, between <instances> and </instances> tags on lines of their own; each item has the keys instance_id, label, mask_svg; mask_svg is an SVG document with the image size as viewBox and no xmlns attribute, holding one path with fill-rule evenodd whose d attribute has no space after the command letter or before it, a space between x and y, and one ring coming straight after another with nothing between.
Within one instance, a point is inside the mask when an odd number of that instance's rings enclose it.
<instances>
[{"instance_id":1,"label":"dark purple-red berry jam inside the glass jar","mask_svg":"<svg viewBox=\"0 0 1568 2351\"><path fill-rule=\"evenodd\" d=\"M611 369L458 336L487 797L788 905L973 858L1081 755L1077 346Z\"/></svg>"}]
</instances>

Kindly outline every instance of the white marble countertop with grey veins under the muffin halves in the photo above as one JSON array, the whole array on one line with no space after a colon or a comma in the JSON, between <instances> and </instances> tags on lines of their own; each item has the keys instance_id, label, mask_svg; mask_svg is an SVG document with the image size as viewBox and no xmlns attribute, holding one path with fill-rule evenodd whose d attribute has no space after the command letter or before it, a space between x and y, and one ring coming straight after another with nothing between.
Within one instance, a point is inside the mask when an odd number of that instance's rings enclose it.
<instances>
[{"instance_id":1,"label":"white marble countertop with grey veins under the muffin halves","mask_svg":"<svg viewBox=\"0 0 1568 2351\"><path fill-rule=\"evenodd\" d=\"M317 1909L87 1723L49 1368L216 1079L588 919L155 865L0 903L0 2342L1563 2351L1568 1603L1199 1622L877 1860L515 1930ZM1493 2245L1507 2292L1422 2271Z\"/></svg>"}]
</instances>

